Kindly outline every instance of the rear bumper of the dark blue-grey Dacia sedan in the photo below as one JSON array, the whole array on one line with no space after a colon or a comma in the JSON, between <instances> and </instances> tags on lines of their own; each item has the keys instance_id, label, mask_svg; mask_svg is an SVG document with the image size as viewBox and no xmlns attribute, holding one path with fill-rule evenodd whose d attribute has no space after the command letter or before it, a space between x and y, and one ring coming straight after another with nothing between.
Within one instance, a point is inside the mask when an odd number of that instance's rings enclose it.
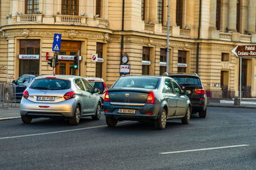
<instances>
[{"instance_id":1,"label":"rear bumper of the dark blue-grey Dacia sedan","mask_svg":"<svg viewBox=\"0 0 256 170\"><path fill-rule=\"evenodd\" d=\"M135 113L118 113L119 109L136 110ZM156 120L160 110L159 104L145 104L144 106L124 106L104 103L106 117L118 120ZM152 113L152 114L151 114Z\"/></svg>"}]
</instances>

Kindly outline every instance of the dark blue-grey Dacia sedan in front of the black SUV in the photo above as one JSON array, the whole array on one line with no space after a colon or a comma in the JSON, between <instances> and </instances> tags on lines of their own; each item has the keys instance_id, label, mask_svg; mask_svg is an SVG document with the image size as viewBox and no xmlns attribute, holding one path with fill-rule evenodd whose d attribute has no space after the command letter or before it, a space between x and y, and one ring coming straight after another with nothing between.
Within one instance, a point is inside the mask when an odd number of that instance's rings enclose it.
<instances>
[{"instance_id":1,"label":"dark blue-grey Dacia sedan in front of the black SUV","mask_svg":"<svg viewBox=\"0 0 256 170\"><path fill-rule=\"evenodd\" d=\"M168 119L189 124L191 103L173 78L122 76L106 92L104 112L109 127L118 120L149 120L156 129L164 129Z\"/></svg>"}]
</instances>

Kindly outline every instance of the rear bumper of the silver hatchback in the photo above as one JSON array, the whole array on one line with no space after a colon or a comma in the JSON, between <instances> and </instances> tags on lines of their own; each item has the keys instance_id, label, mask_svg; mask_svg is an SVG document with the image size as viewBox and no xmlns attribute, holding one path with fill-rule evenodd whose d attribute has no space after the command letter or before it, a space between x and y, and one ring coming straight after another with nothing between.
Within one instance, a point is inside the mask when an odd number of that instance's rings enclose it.
<instances>
[{"instance_id":1,"label":"rear bumper of the silver hatchback","mask_svg":"<svg viewBox=\"0 0 256 170\"><path fill-rule=\"evenodd\" d=\"M40 106L46 106L42 108ZM48 107L49 106L49 107ZM74 99L62 101L60 103L35 103L22 98L20 101L20 115L31 117L72 117L76 103Z\"/></svg>"}]
</instances>

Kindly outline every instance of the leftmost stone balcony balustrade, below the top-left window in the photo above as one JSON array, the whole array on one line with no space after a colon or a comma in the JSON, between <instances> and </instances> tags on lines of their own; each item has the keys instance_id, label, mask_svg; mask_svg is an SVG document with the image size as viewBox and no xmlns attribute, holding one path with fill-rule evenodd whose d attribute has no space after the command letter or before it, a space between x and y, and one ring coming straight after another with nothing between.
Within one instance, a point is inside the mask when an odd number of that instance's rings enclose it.
<instances>
[{"instance_id":1,"label":"leftmost stone balcony balustrade, below the top-left window","mask_svg":"<svg viewBox=\"0 0 256 170\"><path fill-rule=\"evenodd\" d=\"M31 24L39 23L42 24L42 14L25 14L17 15L17 24Z\"/></svg>"}]
</instances>

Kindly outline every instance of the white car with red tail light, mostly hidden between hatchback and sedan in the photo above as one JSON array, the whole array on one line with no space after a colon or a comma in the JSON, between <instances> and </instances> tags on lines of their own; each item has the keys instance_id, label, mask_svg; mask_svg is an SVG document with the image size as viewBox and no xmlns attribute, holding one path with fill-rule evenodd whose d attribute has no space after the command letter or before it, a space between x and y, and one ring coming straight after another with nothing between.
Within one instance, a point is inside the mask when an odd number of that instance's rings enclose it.
<instances>
[{"instance_id":1,"label":"white car with red tail light, mostly hidden between hatchback and sedan","mask_svg":"<svg viewBox=\"0 0 256 170\"><path fill-rule=\"evenodd\" d=\"M85 78L90 85L92 85L92 87L94 89L99 89L99 95L101 98L101 102L102 104L104 103L104 97L105 97L105 93L108 90L108 87L106 86L106 83L104 82L103 78Z\"/></svg>"}]
</instances>

